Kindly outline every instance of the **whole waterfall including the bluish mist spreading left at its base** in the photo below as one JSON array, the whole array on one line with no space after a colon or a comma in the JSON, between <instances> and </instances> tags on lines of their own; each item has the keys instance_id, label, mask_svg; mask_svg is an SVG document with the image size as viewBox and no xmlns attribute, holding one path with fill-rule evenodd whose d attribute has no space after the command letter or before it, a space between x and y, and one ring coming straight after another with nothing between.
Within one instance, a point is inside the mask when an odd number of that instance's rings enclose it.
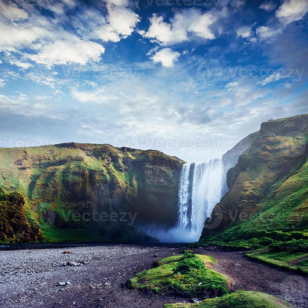
<instances>
[{"instance_id":1,"label":"whole waterfall including the bluish mist spreading left at its base","mask_svg":"<svg viewBox=\"0 0 308 308\"><path fill-rule=\"evenodd\" d=\"M204 221L228 191L226 162L222 158L184 164L179 178L178 225L169 230L148 228L162 242L196 242Z\"/></svg>"}]
</instances>

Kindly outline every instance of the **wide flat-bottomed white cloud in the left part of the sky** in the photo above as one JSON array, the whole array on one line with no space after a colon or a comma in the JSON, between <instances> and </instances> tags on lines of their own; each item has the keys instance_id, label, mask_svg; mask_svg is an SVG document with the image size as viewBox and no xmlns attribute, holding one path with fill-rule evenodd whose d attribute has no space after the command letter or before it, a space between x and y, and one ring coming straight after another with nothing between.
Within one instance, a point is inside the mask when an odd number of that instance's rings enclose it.
<instances>
[{"instance_id":1,"label":"wide flat-bottomed white cloud in the left part of the sky","mask_svg":"<svg viewBox=\"0 0 308 308\"><path fill-rule=\"evenodd\" d=\"M29 58L36 63L45 64L51 67L55 64L86 64L90 60L99 61L105 48L102 45L82 41L77 36L69 35L66 40L58 40L45 44L42 49Z\"/></svg>"}]
</instances>

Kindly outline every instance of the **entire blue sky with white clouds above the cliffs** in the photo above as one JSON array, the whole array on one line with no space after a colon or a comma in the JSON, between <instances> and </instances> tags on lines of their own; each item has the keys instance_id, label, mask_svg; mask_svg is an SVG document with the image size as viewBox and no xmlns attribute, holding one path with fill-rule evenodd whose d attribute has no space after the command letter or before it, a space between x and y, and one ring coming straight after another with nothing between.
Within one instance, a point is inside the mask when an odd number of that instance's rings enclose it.
<instances>
[{"instance_id":1,"label":"entire blue sky with white clouds above the cliffs","mask_svg":"<svg viewBox=\"0 0 308 308\"><path fill-rule=\"evenodd\" d=\"M308 112L308 0L0 0L0 146L218 157Z\"/></svg>"}]
</instances>

